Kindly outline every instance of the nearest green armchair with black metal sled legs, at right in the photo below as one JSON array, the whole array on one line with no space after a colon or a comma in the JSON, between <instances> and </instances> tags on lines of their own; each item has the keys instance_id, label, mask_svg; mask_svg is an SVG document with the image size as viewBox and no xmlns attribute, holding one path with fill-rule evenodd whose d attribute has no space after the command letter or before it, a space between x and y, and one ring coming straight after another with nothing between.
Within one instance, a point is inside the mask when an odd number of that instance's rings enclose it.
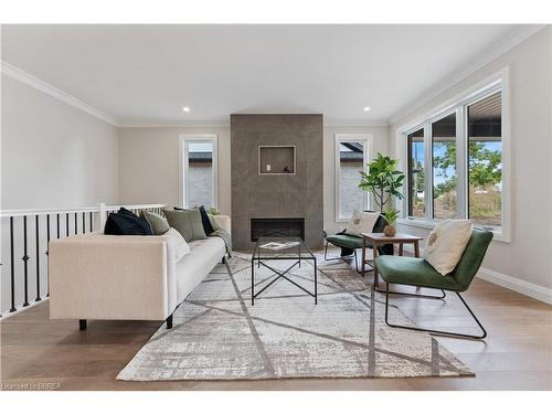
<instances>
[{"instance_id":1,"label":"nearest green armchair with black metal sled legs, at right","mask_svg":"<svg viewBox=\"0 0 552 414\"><path fill-rule=\"evenodd\" d=\"M482 230L474 230L471 232L471 237L461 255L460 261L456 265L456 268L448 275L443 276L437 270L435 270L425 259L417 257L403 257L403 256L379 256L375 259L375 265L378 266L378 272L380 276L385 282L385 323L393 328L404 328L411 330L418 330L435 335L446 335L460 338L469 339L482 339L487 336L487 331L479 322L475 314L468 307L460 293L466 291L474 280L479 267L481 266L487 248L492 241L492 233ZM446 294L445 291L454 291L458 295L459 299L464 306L468 309L471 317L475 319L482 333L480 336L450 332L450 331L439 331L432 329L422 329L399 326L389 322L389 296L392 294L397 294L389 290L389 285L408 285L416 287L426 287L432 289L439 289L443 291L443 296L428 296L428 295L415 295L415 294L404 294L401 295L414 296L420 298L434 298L443 299Z\"/></svg>"}]
</instances>

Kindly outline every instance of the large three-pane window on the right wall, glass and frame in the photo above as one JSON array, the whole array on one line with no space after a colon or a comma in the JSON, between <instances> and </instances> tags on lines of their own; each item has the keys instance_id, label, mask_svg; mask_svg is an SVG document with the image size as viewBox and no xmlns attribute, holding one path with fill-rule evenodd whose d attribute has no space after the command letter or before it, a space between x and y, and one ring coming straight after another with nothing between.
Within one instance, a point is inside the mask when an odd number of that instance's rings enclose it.
<instances>
[{"instance_id":1,"label":"large three-pane window on the right wall, glass and frame","mask_svg":"<svg viewBox=\"0 0 552 414\"><path fill-rule=\"evenodd\" d=\"M406 217L469 219L474 225L498 233L499 240L508 240L503 170L507 72L501 76L402 129Z\"/></svg>"}]
</instances>

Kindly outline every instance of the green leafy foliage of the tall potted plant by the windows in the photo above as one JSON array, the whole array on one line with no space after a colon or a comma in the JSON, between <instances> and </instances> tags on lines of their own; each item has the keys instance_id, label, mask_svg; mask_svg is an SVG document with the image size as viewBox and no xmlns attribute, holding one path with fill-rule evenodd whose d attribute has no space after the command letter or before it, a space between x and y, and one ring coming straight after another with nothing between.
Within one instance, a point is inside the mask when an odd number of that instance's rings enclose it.
<instances>
[{"instance_id":1,"label":"green leafy foliage of the tall potted plant by the windows","mask_svg":"<svg viewBox=\"0 0 552 414\"><path fill-rule=\"evenodd\" d=\"M399 190L403 187L404 173L396 169L397 164L399 160L378 152L378 157L368 166L368 171L360 171L359 187L373 194L382 214L392 197L403 199L403 193Z\"/></svg>"}]
</instances>

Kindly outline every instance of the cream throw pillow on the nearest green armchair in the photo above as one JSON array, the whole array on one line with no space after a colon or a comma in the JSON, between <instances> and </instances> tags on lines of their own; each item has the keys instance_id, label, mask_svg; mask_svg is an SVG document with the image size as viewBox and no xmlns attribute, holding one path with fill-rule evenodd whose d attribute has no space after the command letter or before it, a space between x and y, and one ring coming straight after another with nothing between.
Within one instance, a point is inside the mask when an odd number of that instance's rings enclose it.
<instances>
[{"instance_id":1,"label":"cream throw pillow on the nearest green armchair","mask_svg":"<svg viewBox=\"0 0 552 414\"><path fill-rule=\"evenodd\" d=\"M469 220L444 220L429 233L423 257L443 276L454 270L471 237Z\"/></svg>"}]
</instances>

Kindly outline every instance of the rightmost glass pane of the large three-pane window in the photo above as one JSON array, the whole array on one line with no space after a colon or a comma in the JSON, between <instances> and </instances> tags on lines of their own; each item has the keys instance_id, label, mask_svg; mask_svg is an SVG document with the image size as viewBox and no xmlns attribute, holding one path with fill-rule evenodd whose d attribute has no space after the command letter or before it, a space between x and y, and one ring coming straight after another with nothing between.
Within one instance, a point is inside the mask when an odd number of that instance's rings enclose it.
<instances>
[{"instance_id":1,"label":"rightmost glass pane of the large three-pane window","mask_svg":"<svg viewBox=\"0 0 552 414\"><path fill-rule=\"evenodd\" d=\"M468 216L492 227L502 221L501 108L500 92L468 106Z\"/></svg>"}]
</instances>

